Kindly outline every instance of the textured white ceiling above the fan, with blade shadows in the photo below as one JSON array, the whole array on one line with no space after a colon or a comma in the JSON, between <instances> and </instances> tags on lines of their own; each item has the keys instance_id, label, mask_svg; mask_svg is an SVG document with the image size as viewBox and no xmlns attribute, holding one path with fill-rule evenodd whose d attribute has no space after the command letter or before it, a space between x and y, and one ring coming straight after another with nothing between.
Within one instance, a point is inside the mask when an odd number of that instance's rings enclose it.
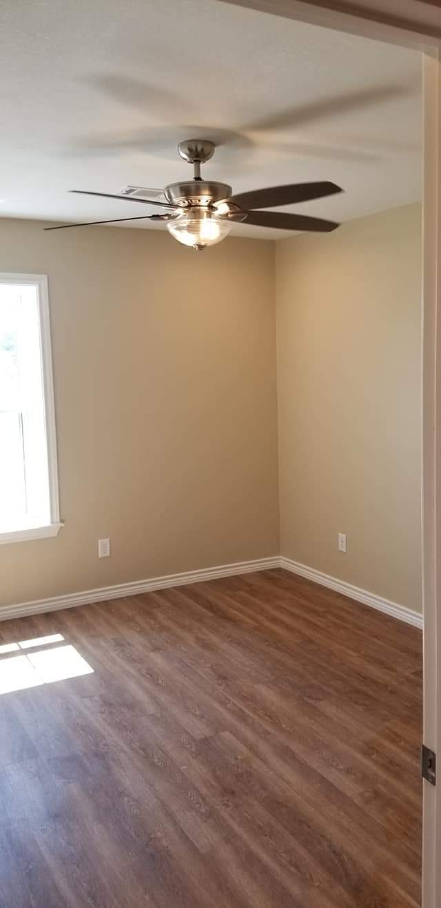
<instances>
[{"instance_id":1,"label":"textured white ceiling above the fan, with blade shadows","mask_svg":"<svg viewBox=\"0 0 441 908\"><path fill-rule=\"evenodd\" d=\"M205 173L236 192L346 191L288 210L348 220L416 201L420 67L414 51L217 0L0 0L0 216L135 216L68 190L189 177L176 144L193 135L219 140Z\"/></svg>"}]
</instances>

